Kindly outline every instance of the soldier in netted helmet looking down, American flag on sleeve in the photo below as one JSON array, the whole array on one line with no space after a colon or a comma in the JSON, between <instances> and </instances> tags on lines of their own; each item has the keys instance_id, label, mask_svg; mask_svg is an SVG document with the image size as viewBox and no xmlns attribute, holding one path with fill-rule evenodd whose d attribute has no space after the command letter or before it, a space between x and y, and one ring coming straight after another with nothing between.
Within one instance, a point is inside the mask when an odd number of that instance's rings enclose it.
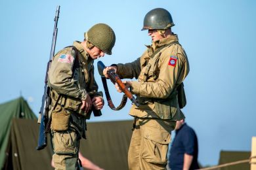
<instances>
[{"instance_id":1,"label":"soldier in netted helmet looking down, American flag on sleeve","mask_svg":"<svg viewBox=\"0 0 256 170\"><path fill-rule=\"evenodd\" d=\"M91 110L104 105L102 92L94 77L94 59L112 54L116 36L106 24L93 25L85 33L83 42L60 50L49 69L48 85L51 88L51 140L56 169L77 169L79 140L85 138L85 120Z\"/></svg>"}]
</instances>

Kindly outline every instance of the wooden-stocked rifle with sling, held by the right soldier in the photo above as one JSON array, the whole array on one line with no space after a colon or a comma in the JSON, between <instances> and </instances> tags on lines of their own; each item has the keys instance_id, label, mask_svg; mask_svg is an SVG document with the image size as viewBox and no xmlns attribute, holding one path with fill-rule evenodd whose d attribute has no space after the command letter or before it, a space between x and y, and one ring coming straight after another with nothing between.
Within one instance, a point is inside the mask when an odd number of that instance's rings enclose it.
<instances>
[{"instance_id":1,"label":"wooden-stocked rifle with sling, held by the right soldier","mask_svg":"<svg viewBox=\"0 0 256 170\"><path fill-rule=\"evenodd\" d=\"M119 76L115 73L114 69L110 69L107 72L108 77L113 82L113 84L117 83L119 85L119 87L121 88L121 90L123 91L123 93L125 93L123 95L123 99L121 101L121 104L118 107L115 107L114 104L112 103L112 99L110 97L110 93L108 92L108 85L107 85L107 82L106 82L106 78L103 75L103 70L106 67L105 67L104 63L102 63L102 61L98 61L97 66L98 66L98 73L101 76L101 80L102 80L102 83L103 83L103 87L104 87L104 90L105 90L106 98L107 98L108 105L109 105L110 109L112 109L112 110L120 110L120 109L122 109L125 106L126 102L127 102L127 97L131 100L131 102L134 105L139 107L139 103L136 101L135 97L133 97L133 94L127 89L125 84L123 84L123 82L121 81Z\"/></svg>"}]
</instances>

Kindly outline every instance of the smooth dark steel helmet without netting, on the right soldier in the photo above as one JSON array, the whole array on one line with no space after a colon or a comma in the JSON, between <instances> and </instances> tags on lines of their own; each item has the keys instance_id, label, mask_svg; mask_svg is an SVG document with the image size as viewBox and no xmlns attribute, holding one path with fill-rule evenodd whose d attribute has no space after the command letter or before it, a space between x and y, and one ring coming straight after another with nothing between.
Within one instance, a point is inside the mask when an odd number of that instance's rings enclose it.
<instances>
[{"instance_id":1,"label":"smooth dark steel helmet without netting, on the right soldier","mask_svg":"<svg viewBox=\"0 0 256 170\"><path fill-rule=\"evenodd\" d=\"M168 29L174 26L173 18L168 10L152 9L144 17L144 23L141 31L146 29Z\"/></svg>"}]
</instances>

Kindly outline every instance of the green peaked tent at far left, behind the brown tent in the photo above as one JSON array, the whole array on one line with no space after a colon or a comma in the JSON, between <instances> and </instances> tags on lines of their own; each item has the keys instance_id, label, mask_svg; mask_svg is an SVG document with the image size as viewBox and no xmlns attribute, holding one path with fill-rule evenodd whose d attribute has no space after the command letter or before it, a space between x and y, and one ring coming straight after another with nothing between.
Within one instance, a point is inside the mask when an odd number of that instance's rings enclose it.
<instances>
[{"instance_id":1,"label":"green peaked tent at far left, behind the brown tent","mask_svg":"<svg viewBox=\"0 0 256 170\"><path fill-rule=\"evenodd\" d=\"M9 142L12 118L36 119L23 97L0 105L0 167L6 159L5 150Z\"/></svg>"}]
</instances>

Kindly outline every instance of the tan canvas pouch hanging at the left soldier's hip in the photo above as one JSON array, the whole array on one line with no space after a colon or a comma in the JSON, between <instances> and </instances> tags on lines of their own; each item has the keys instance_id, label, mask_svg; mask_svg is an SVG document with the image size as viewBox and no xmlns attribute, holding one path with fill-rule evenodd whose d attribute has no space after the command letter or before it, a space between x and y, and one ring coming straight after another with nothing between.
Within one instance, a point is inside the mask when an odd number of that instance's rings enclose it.
<instances>
[{"instance_id":1,"label":"tan canvas pouch hanging at the left soldier's hip","mask_svg":"<svg viewBox=\"0 0 256 170\"><path fill-rule=\"evenodd\" d=\"M51 128L55 131L66 131L70 122L70 113L60 106L52 112Z\"/></svg>"}]
</instances>

